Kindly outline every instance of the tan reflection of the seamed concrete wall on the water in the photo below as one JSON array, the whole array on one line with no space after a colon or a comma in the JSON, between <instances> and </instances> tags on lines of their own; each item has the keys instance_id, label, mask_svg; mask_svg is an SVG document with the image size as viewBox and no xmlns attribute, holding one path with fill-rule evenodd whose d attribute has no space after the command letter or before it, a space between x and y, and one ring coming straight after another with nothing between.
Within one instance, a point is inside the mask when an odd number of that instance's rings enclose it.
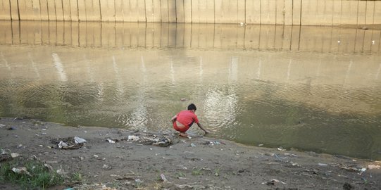
<instances>
[{"instance_id":1,"label":"tan reflection of the seamed concrete wall on the water","mask_svg":"<svg viewBox=\"0 0 381 190\"><path fill-rule=\"evenodd\" d=\"M0 44L380 53L381 30L326 26L0 21Z\"/></svg>"}]
</instances>

